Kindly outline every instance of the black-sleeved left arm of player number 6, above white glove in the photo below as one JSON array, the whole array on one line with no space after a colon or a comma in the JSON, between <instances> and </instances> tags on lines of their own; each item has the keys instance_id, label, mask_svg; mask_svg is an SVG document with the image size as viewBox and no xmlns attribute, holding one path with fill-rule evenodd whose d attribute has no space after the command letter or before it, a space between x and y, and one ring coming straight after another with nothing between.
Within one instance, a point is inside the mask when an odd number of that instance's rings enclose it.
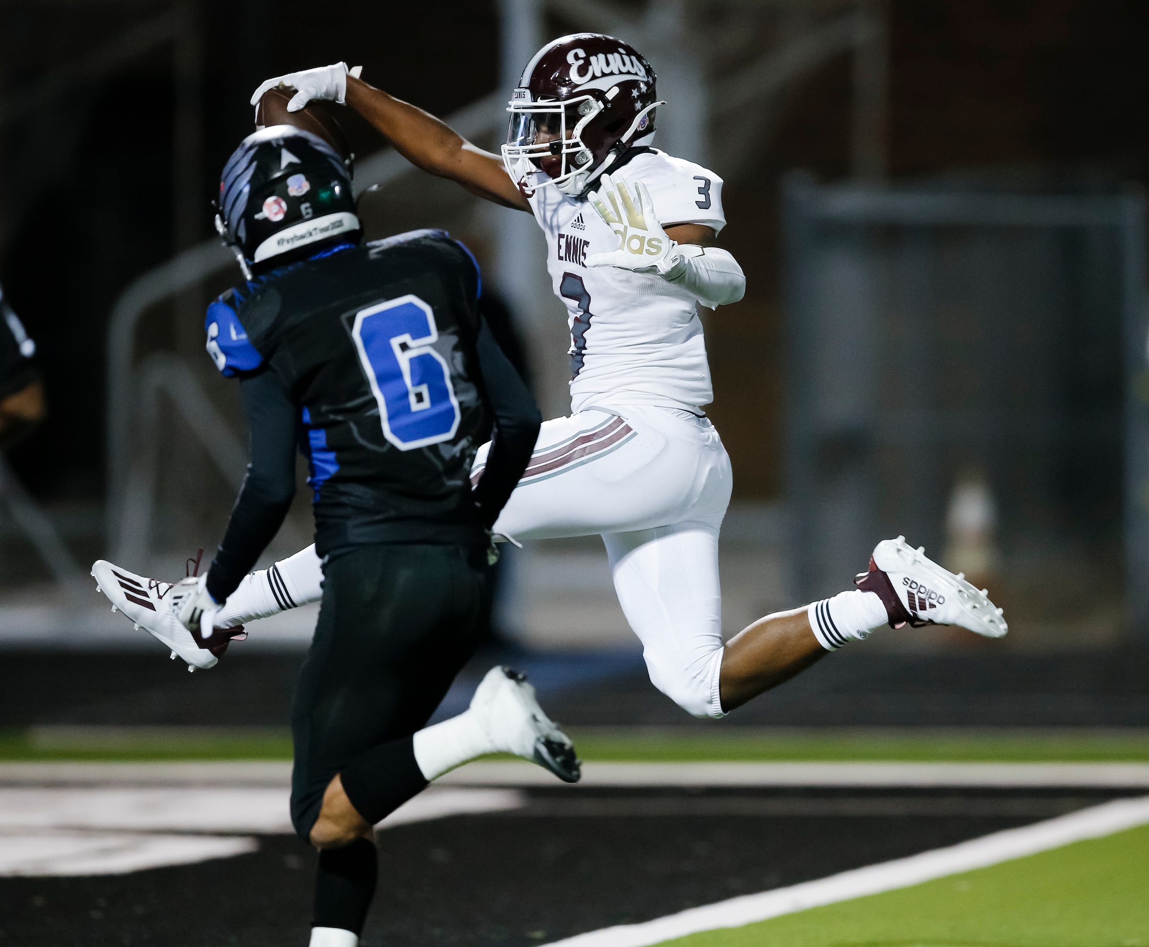
<instances>
[{"instance_id":1,"label":"black-sleeved left arm of player number 6, above white glove","mask_svg":"<svg viewBox=\"0 0 1149 947\"><path fill-rule=\"evenodd\" d=\"M222 605L275 538L295 498L296 410L273 371L240 378L252 460L206 588Z\"/></svg>"}]
</instances>

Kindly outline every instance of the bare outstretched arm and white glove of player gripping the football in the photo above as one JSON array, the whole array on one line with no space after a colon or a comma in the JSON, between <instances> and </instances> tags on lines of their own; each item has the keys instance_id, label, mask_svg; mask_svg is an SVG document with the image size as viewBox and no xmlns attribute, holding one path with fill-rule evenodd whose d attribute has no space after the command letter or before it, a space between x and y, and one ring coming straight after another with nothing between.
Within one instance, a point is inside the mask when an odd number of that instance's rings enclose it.
<instances>
[{"instance_id":1,"label":"bare outstretched arm and white glove of player gripping the football","mask_svg":"<svg viewBox=\"0 0 1149 947\"><path fill-rule=\"evenodd\" d=\"M367 118L395 151L438 177L457 182L472 194L488 201L530 211L531 206L503 168L502 159L477 148L433 115L388 95L358 78L358 70L346 63L288 72L268 79L252 97L252 105L269 88L294 88L288 111L303 108L311 99L326 99L348 105Z\"/></svg>"}]
</instances>

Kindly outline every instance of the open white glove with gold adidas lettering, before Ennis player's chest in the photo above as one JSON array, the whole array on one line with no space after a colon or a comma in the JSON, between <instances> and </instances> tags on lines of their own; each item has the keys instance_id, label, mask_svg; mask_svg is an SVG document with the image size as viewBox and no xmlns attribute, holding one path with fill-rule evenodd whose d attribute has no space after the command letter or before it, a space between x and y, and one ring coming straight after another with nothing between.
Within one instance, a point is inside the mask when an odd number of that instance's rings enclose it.
<instances>
[{"instance_id":1,"label":"open white glove with gold adidas lettering, before Ennis player's chest","mask_svg":"<svg viewBox=\"0 0 1149 947\"><path fill-rule=\"evenodd\" d=\"M599 190L587 194L587 200L618 238L618 249L591 254L586 259L588 267L619 267L665 276L678 263L678 244L655 218L650 192L641 180L634 183L632 198L625 180L603 175Z\"/></svg>"}]
</instances>

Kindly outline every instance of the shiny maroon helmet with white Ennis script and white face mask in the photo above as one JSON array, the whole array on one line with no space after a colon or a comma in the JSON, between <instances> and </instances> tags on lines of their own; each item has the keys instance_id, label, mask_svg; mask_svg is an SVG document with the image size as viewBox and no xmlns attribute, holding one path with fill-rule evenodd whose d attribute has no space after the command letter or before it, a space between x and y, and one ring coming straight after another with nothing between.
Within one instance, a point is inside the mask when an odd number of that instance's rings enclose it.
<instances>
[{"instance_id":1,"label":"shiny maroon helmet with white Ennis script and white face mask","mask_svg":"<svg viewBox=\"0 0 1149 947\"><path fill-rule=\"evenodd\" d=\"M520 187L543 171L564 194L588 191L627 148L654 134L655 75L630 44L573 33L543 46L511 95L503 164Z\"/></svg>"}]
</instances>

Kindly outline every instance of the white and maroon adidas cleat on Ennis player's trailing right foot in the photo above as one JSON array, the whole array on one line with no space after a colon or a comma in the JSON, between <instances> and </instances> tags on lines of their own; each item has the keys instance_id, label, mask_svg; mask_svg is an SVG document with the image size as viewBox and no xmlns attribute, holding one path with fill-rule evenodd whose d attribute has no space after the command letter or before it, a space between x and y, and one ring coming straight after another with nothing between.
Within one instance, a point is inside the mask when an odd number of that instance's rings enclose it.
<instances>
[{"instance_id":1,"label":"white and maroon adidas cleat on Ennis player's trailing right foot","mask_svg":"<svg viewBox=\"0 0 1149 947\"><path fill-rule=\"evenodd\" d=\"M976 588L961 572L942 569L923 547L912 548L901 536L877 545L869 571L854 584L881 599L890 628L958 625L986 638L1009 631L1002 609L989 601L985 588Z\"/></svg>"}]
</instances>

